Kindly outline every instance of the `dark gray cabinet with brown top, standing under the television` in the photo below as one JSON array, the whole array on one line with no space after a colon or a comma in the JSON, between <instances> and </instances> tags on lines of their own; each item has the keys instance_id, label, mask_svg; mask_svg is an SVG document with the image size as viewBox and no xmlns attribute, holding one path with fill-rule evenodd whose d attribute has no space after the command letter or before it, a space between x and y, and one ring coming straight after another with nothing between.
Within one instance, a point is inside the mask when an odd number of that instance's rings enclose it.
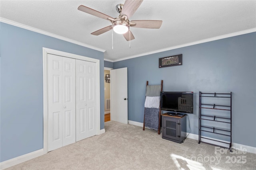
<instances>
[{"instance_id":1,"label":"dark gray cabinet with brown top, standing under the television","mask_svg":"<svg viewBox=\"0 0 256 170\"><path fill-rule=\"evenodd\" d=\"M177 143L184 142L186 138L186 115L171 116L162 114L162 138Z\"/></svg>"}]
</instances>

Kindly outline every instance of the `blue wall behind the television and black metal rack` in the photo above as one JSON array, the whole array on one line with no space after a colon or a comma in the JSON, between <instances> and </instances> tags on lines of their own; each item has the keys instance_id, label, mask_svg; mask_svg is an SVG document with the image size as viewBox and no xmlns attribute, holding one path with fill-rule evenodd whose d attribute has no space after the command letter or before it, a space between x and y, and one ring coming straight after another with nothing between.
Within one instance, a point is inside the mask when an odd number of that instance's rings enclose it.
<instances>
[{"instance_id":1,"label":"blue wall behind the television and black metal rack","mask_svg":"<svg viewBox=\"0 0 256 170\"><path fill-rule=\"evenodd\" d=\"M198 92L232 92L232 142L256 147L255 47L254 32L115 62L114 69L128 67L128 120L143 123L147 80L150 85L164 80L164 91L194 92L193 134L198 134ZM158 68L159 58L178 54L183 65Z\"/></svg>"}]
</instances>

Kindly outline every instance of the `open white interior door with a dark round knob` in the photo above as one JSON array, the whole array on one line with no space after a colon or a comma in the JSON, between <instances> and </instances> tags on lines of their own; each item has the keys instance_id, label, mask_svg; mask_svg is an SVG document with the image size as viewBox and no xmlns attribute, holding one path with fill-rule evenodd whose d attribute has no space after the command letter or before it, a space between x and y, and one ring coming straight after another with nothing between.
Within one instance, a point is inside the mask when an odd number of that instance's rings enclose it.
<instances>
[{"instance_id":1,"label":"open white interior door with a dark round knob","mask_svg":"<svg viewBox=\"0 0 256 170\"><path fill-rule=\"evenodd\" d=\"M128 124L127 67L110 70L111 120Z\"/></svg>"}]
</instances>

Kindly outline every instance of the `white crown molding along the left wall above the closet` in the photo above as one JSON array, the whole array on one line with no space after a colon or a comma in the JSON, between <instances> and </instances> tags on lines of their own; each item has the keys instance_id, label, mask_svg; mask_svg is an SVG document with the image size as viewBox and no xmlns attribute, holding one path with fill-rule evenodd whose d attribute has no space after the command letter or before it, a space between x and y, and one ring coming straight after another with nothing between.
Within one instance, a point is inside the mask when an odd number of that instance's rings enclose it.
<instances>
[{"instance_id":1,"label":"white crown molding along the left wall above the closet","mask_svg":"<svg viewBox=\"0 0 256 170\"><path fill-rule=\"evenodd\" d=\"M49 33L49 32L46 32L46 31L43 31L41 29L37 29L37 28L34 28L34 27L30 27L28 25L24 25L22 23L18 23L18 22L15 22L15 21L11 21L11 20L8 20L8 19L5 19L5 18L1 18L0 17L0 21L3 22L3 23L7 23L7 24L10 24L10 25L14 25L16 27L20 27L20 28L24 28L24 29L28 29L30 31L34 31L34 32L37 32L37 33L41 33L41 34L44 34L44 35L48 35L50 37L54 37L54 38L57 38L57 39L61 39L61 40L64 40L64 41L67 41L67 42L70 42L70 43L73 43L73 44L77 44L77 45L81 45L83 47L87 47L87 48L90 48L90 49L94 49L94 50L97 50L97 51L100 51L100 52L105 52L106 50L104 49L100 49L100 48L97 48L97 47L94 47L94 46L91 46L91 45L87 45L87 44L84 44L84 43L80 43L78 41L75 41L75 40L72 40L72 39L68 39L68 38L65 38L65 37L62 37L62 36L59 36L59 35L56 35L56 34L53 34L53 33Z\"/></svg>"}]
</instances>

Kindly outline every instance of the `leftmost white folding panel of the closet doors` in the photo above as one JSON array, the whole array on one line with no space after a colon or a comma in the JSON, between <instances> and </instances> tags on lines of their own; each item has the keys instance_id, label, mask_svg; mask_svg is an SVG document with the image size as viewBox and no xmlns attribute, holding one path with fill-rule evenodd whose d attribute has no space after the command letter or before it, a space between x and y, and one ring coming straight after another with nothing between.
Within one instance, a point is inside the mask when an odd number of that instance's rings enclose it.
<instances>
[{"instance_id":1,"label":"leftmost white folding panel of the closet doors","mask_svg":"<svg viewBox=\"0 0 256 170\"><path fill-rule=\"evenodd\" d=\"M48 151L62 147L62 57L48 55Z\"/></svg>"}]
</instances>

